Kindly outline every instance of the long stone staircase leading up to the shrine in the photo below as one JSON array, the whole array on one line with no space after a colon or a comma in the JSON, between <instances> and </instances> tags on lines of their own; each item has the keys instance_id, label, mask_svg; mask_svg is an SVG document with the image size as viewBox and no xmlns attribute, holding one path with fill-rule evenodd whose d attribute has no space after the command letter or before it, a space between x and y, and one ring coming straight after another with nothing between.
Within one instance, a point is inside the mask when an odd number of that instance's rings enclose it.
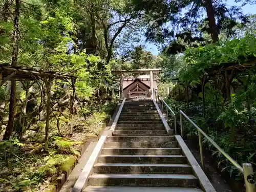
<instances>
[{"instance_id":1,"label":"long stone staircase leading up to the shrine","mask_svg":"<svg viewBox=\"0 0 256 192\"><path fill-rule=\"evenodd\" d=\"M127 100L83 191L202 191L194 175L153 101Z\"/></svg>"}]
</instances>

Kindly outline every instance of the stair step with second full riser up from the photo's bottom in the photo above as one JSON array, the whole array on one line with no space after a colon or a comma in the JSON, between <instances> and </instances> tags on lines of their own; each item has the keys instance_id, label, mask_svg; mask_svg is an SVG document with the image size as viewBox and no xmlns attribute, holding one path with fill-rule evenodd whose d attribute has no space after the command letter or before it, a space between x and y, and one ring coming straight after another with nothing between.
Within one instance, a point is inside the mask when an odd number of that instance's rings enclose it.
<instances>
[{"instance_id":1,"label":"stair step with second full riser up from the photo's bottom","mask_svg":"<svg viewBox=\"0 0 256 192\"><path fill-rule=\"evenodd\" d=\"M187 164L97 163L96 174L191 174Z\"/></svg>"}]
</instances>

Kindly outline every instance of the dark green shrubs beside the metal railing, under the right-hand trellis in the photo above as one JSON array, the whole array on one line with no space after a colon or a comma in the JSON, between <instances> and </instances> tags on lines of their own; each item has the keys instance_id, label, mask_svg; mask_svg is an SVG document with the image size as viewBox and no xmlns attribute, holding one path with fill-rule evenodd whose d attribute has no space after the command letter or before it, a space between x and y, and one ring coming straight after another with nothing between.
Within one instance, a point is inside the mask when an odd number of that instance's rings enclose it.
<instances>
[{"instance_id":1,"label":"dark green shrubs beside the metal railing, under the right-hand trellis","mask_svg":"<svg viewBox=\"0 0 256 192\"><path fill-rule=\"evenodd\" d=\"M168 104L176 112L179 110L185 112L189 118L240 165L249 162L255 168L256 127L249 122L249 115L246 111L238 110L235 113L231 113L229 107L221 103L216 105L218 109L214 109L212 105L208 104L206 109L207 115L204 119L202 117L202 102L199 100L189 102L189 108L187 108L187 103L183 101L168 100ZM255 109L251 110L250 118L255 119ZM198 137L198 131L194 125L185 118L183 118L182 123L183 134L186 138L193 139ZM178 125L178 127L180 126ZM203 145L218 160L217 164L222 171L228 171L230 177L233 177L235 180L243 179L239 170L204 137Z\"/></svg>"}]
</instances>

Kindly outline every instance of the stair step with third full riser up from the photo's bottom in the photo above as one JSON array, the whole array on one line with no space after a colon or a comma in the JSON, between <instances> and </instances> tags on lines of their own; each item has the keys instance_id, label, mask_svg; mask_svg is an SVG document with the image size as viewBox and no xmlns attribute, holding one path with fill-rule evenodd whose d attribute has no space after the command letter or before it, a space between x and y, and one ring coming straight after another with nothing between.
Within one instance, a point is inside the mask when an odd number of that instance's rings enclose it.
<instances>
[{"instance_id":1,"label":"stair step with third full riser up from the photo's bottom","mask_svg":"<svg viewBox=\"0 0 256 192\"><path fill-rule=\"evenodd\" d=\"M100 155L99 163L187 163L183 155Z\"/></svg>"}]
</instances>

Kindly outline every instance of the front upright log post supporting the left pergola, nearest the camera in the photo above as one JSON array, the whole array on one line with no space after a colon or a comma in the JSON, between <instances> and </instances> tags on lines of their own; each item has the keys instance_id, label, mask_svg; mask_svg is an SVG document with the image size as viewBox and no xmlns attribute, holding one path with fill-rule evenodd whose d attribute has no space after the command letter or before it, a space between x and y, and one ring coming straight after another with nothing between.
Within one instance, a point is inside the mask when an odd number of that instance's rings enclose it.
<instances>
[{"instance_id":1,"label":"front upright log post supporting the left pergola, nearest the camera","mask_svg":"<svg viewBox=\"0 0 256 192\"><path fill-rule=\"evenodd\" d=\"M47 77L45 77L45 83L46 83L46 90L47 90L47 105L46 105L46 143L45 143L45 150L47 150L49 145L49 126L50 126L50 97L51 97L51 84L52 84L52 77L49 76L49 79L47 80Z\"/></svg>"}]
</instances>

